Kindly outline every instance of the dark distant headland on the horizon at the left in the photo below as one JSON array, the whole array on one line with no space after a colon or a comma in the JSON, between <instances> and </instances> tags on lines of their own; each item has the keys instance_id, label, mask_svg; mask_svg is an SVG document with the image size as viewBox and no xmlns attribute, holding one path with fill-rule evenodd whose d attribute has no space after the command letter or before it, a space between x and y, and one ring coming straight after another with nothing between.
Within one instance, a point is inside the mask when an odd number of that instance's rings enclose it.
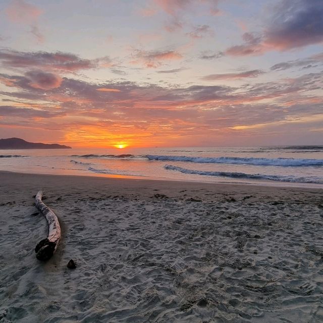
<instances>
[{"instance_id":1,"label":"dark distant headland on the horizon at the left","mask_svg":"<svg viewBox=\"0 0 323 323\"><path fill-rule=\"evenodd\" d=\"M58 143L28 142L20 138L0 139L0 149L70 149L72 147Z\"/></svg>"}]
</instances>

